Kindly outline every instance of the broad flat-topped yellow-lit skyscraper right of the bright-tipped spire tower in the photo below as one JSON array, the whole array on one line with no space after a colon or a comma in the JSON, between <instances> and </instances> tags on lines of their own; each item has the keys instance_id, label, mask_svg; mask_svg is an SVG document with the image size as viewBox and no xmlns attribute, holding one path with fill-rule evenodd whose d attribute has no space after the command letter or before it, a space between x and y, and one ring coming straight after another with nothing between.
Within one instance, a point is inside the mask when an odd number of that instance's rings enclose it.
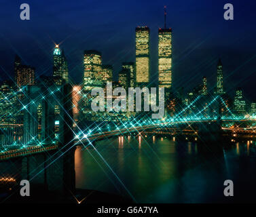
<instances>
[{"instance_id":1,"label":"broad flat-topped yellow-lit skyscraper right of the bright-tipped spire tower","mask_svg":"<svg viewBox=\"0 0 256 217\"><path fill-rule=\"evenodd\" d=\"M103 69L100 52L84 51L84 90L103 85Z\"/></svg>"}]
</instances>

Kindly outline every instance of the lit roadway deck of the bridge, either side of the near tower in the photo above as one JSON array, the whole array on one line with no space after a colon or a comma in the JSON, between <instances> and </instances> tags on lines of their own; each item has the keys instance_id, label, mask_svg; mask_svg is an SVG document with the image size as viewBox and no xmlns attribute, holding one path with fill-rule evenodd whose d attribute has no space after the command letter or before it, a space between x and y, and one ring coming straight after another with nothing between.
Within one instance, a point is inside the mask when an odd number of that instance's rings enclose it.
<instances>
[{"instance_id":1,"label":"lit roadway deck of the bridge, either side of the near tower","mask_svg":"<svg viewBox=\"0 0 256 217\"><path fill-rule=\"evenodd\" d=\"M246 134L251 137L256 136L256 126L253 127L239 127L244 122L253 121L255 119L223 119L223 124L228 125L230 123L234 124L236 121L237 127L232 125L231 127L222 127L223 134L227 132L230 136L234 136L237 134ZM111 138L113 136L124 136L130 134L147 134L149 132L153 133L175 133L175 134L194 134L198 135L198 125L207 124L207 123L216 123L216 119L206 119L206 120L189 120L189 121L172 121L172 122L162 122L162 123L154 123L149 125L140 125L133 127L125 127L118 130L109 130L105 132L96 132L92 134L86 134L84 132L80 132L75 135L73 138L72 145L92 145L96 140L103 140L106 138ZM37 145L16 145L16 146L3 146L0 153L0 160L10 159L14 157L21 157L26 155L32 155L37 153L42 153L45 151L53 151L60 148L60 145L56 142L52 142L49 144L37 144Z\"/></svg>"}]
</instances>

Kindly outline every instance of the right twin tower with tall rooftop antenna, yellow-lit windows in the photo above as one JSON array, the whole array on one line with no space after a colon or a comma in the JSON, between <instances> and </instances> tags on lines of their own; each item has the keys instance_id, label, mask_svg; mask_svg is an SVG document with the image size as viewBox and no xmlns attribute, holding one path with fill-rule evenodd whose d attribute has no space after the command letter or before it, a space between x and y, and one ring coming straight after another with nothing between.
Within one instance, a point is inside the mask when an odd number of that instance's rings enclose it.
<instances>
[{"instance_id":1,"label":"right twin tower with tall rooftop antenna, yellow-lit windows","mask_svg":"<svg viewBox=\"0 0 256 217\"><path fill-rule=\"evenodd\" d=\"M166 28L166 7L164 7L164 28L158 29L158 73L159 87L172 86L172 29Z\"/></svg>"}]
</instances>

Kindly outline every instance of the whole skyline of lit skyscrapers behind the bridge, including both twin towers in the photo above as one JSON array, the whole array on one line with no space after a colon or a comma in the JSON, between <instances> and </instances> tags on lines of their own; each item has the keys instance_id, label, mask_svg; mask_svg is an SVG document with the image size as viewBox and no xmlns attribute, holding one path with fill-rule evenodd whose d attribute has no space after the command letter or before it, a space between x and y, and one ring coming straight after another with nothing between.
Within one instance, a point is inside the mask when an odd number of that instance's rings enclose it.
<instances>
[{"instance_id":1,"label":"whole skyline of lit skyscrapers behind the bridge, including both twin towers","mask_svg":"<svg viewBox=\"0 0 256 217\"><path fill-rule=\"evenodd\" d=\"M131 114L128 113L93 113L90 107L92 96L90 91L94 87L106 87L107 81L110 81L114 87L150 87L151 72L150 72L150 31L148 26L139 26L135 28L135 59L134 62L122 62L122 68L118 73L117 81L114 81L113 66L103 64L103 57L97 50L85 50L83 57L83 81L81 84L73 85L73 113L75 120L88 119L91 121L103 120L113 121L113 119L127 119ZM52 76L43 77L44 81L49 80L56 87L63 83L70 83L69 69L67 58L64 51L56 45L52 54ZM173 115L183 108L187 107L184 115L191 115L195 111L202 110L202 114L217 113L217 109L209 109L209 101L215 96L223 97L223 113L233 111L236 114L246 114L246 112L256 113L256 102L248 103L244 99L242 89L236 90L236 96L231 99L225 92L223 82L223 64L221 59L217 62L215 90L211 94L208 88L207 78L202 77L202 83L194 87L191 92L184 94L183 88L178 88L176 92L173 90L172 81L172 29L166 27L166 7L164 8L164 28L158 29L158 86L164 87L165 98L161 99L166 102L166 113ZM7 120L5 111L10 110L13 104L17 104L15 98L10 99L15 94L19 99L22 99L22 87L27 85L35 85L35 68L22 64L19 56L14 60L14 81L4 81L0 85L1 102L0 112L1 120ZM198 105L191 104L198 96L202 96L202 100ZM113 98L114 100L114 98ZM18 106L18 104L17 104ZM199 107L202 109L198 109ZM14 107L14 106L12 106ZM60 108L55 107L54 112L58 115ZM37 109L37 116L40 119L41 104ZM14 116L13 116L14 117ZM10 121L10 120L9 120ZM13 122L14 118L12 119ZM12 122L11 121L11 122Z\"/></svg>"}]
</instances>

